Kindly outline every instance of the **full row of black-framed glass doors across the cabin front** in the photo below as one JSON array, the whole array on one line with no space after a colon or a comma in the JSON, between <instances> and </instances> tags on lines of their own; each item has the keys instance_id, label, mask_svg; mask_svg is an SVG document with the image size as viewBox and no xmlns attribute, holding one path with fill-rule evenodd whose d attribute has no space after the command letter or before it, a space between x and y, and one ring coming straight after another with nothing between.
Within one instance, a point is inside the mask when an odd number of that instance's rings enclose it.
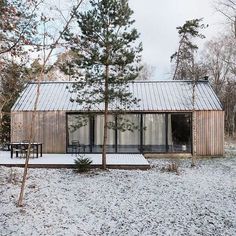
<instances>
[{"instance_id":1,"label":"full row of black-framed glass doors across the cabin front","mask_svg":"<svg viewBox=\"0 0 236 236\"><path fill-rule=\"evenodd\" d=\"M191 152L190 113L108 116L108 153ZM67 114L67 152L79 141L83 152L101 153L104 115Z\"/></svg>"}]
</instances>

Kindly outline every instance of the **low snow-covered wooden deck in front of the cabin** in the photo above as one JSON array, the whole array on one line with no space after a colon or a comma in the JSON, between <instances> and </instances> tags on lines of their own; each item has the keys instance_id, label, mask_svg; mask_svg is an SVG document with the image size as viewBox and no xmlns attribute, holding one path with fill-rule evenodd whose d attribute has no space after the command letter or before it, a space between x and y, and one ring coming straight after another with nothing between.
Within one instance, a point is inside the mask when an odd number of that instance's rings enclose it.
<instances>
[{"instance_id":1,"label":"low snow-covered wooden deck in front of the cabin","mask_svg":"<svg viewBox=\"0 0 236 236\"><path fill-rule=\"evenodd\" d=\"M101 154L85 154L92 160L92 168L102 166ZM30 168L74 168L75 154L43 154L39 158L30 158ZM10 158L10 152L0 151L0 165L8 167L24 167L24 158ZM109 169L141 169L147 170L150 164L141 154L107 154Z\"/></svg>"}]
</instances>

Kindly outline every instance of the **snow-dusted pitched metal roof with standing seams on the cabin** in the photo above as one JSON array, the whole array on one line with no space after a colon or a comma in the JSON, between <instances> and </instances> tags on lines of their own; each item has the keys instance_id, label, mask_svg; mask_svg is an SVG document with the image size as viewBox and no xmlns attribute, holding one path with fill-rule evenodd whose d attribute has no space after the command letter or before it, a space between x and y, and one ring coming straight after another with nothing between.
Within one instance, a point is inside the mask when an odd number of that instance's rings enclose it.
<instances>
[{"instance_id":1,"label":"snow-dusted pitched metal roof with standing seams on the cabin","mask_svg":"<svg viewBox=\"0 0 236 236\"><path fill-rule=\"evenodd\" d=\"M42 82L37 111L81 111L83 108L71 102L69 92L75 82ZM191 111L192 83L190 81L136 81L129 84L135 97L141 99L132 111ZM28 83L12 107L12 111L32 111L37 83ZM100 106L99 109L102 107ZM98 108L94 108L97 110ZM196 85L196 110L222 110L222 105L207 81Z\"/></svg>"}]
</instances>

